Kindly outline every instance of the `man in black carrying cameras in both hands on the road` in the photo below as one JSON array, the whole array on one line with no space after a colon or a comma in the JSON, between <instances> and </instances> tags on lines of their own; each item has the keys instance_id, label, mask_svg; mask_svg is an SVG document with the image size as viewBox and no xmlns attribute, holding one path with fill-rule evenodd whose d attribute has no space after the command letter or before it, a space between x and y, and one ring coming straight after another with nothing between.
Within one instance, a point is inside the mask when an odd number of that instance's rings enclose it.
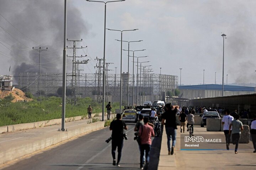
<instances>
[{"instance_id":1,"label":"man in black carrying cameras in both hands on the road","mask_svg":"<svg viewBox=\"0 0 256 170\"><path fill-rule=\"evenodd\" d=\"M122 148L123 148L123 139L127 140L126 134L124 133L124 129L127 130L127 126L123 120L121 120L121 114L116 115L117 120L113 120L110 123L110 130L112 130L112 157L113 157L113 165L119 165ZM117 163L116 163L116 148L118 152Z\"/></svg>"}]
</instances>

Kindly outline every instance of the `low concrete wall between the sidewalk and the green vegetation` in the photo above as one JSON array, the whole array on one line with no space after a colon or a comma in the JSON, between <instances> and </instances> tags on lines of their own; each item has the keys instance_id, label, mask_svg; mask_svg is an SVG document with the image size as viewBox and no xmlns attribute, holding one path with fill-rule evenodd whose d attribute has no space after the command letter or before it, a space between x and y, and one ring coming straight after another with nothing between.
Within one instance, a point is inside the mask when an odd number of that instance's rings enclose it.
<instances>
[{"instance_id":1,"label":"low concrete wall between the sidewalk and the green vegetation","mask_svg":"<svg viewBox=\"0 0 256 170\"><path fill-rule=\"evenodd\" d=\"M92 114L92 117L97 113ZM76 121L81 120L81 116L71 117L71 118L65 118L65 122L69 121ZM37 121L32 123L22 123L22 124L16 124L16 125L8 125L8 126L0 126L0 134L7 133L7 132L15 132L19 130L26 130L26 129L33 129L33 128L41 128L44 126L49 125L57 125L61 124L62 119L52 119L52 120L45 120L45 121Z\"/></svg>"}]
</instances>

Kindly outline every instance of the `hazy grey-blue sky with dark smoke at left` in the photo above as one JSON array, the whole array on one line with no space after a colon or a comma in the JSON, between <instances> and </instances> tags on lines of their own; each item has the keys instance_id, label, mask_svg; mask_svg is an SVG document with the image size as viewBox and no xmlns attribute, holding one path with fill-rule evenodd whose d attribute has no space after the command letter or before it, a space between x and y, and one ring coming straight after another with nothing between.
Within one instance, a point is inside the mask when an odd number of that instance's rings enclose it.
<instances>
[{"instance_id":1,"label":"hazy grey-blue sky with dark smoke at left","mask_svg":"<svg viewBox=\"0 0 256 170\"><path fill-rule=\"evenodd\" d=\"M32 46L48 47L42 52L42 72L62 71L64 0L0 0L0 74L37 71L38 53ZM223 38L224 82L255 83L256 1L253 0L126 0L107 4L106 28L139 29L124 32L135 56L149 56L154 73L177 75L180 84L222 84ZM104 4L68 0L67 38L80 40L77 55L91 57L81 69L95 73L94 58L103 58ZM8 21L6 21L5 19ZM106 30L106 62L120 73L120 32ZM70 47L71 45L67 43ZM128 44L123 42L123 49ZM45 53L46 52L46 53ZM72 51L68 50L68 55ZM127 72L128 52L123 52ZM132 55L132 53L130 53ZM90 59L90 57L88 59ZM87 59L85 57L84 59ZM132 58L130 58L132 59ZM131 60L130 60L131 61ZM24 62L22 64L22 62ZM71 72L68 58L68 72ZM130 73L132 63L130 62ZM114 73L111 71L110 73Z\"/></svg>"}]
</instances>

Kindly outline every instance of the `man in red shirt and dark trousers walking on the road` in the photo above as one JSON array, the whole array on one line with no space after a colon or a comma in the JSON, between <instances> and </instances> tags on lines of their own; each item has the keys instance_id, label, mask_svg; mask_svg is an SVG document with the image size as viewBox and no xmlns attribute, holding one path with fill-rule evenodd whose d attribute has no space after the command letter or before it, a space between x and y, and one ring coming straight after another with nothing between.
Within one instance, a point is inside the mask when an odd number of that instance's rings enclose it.
<instances>
[{"instance_id":1,"label":"man in red shirt and dark trousers walking on the road","mask_svg":"<svg viewBox=\"0 0 256 170\"><path fill-rule=\"evenodd\" d=\"M144 125L140 127L139 134L140 136L140 168L143 169L143 157L144 157L144 151L146 155L146 164L145 166L148 166L149 163L149 152L151 147L151 136L155 136L154 129L152 126L148 124L149 118L144 117L143 122Z\"/></svg>"}]
</instances>

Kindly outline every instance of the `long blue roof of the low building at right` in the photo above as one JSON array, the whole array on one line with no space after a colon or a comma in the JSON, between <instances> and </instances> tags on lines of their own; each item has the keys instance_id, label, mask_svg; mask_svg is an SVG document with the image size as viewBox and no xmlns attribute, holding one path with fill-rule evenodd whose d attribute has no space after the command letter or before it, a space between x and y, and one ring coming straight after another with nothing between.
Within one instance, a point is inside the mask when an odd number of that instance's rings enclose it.
<instances>
[{"instance_id":1,"label":"long blue roof of the low building at right","mask_svg":"<svg viewBox=\"0 0 256 170\"><path fill-rule=\"evenodd\" d=\"M221 84L178 86L179 89L190 90L222 90ZM224 85L224 91L255 91L255 87Z\"/></svg>"}]
</instances>

